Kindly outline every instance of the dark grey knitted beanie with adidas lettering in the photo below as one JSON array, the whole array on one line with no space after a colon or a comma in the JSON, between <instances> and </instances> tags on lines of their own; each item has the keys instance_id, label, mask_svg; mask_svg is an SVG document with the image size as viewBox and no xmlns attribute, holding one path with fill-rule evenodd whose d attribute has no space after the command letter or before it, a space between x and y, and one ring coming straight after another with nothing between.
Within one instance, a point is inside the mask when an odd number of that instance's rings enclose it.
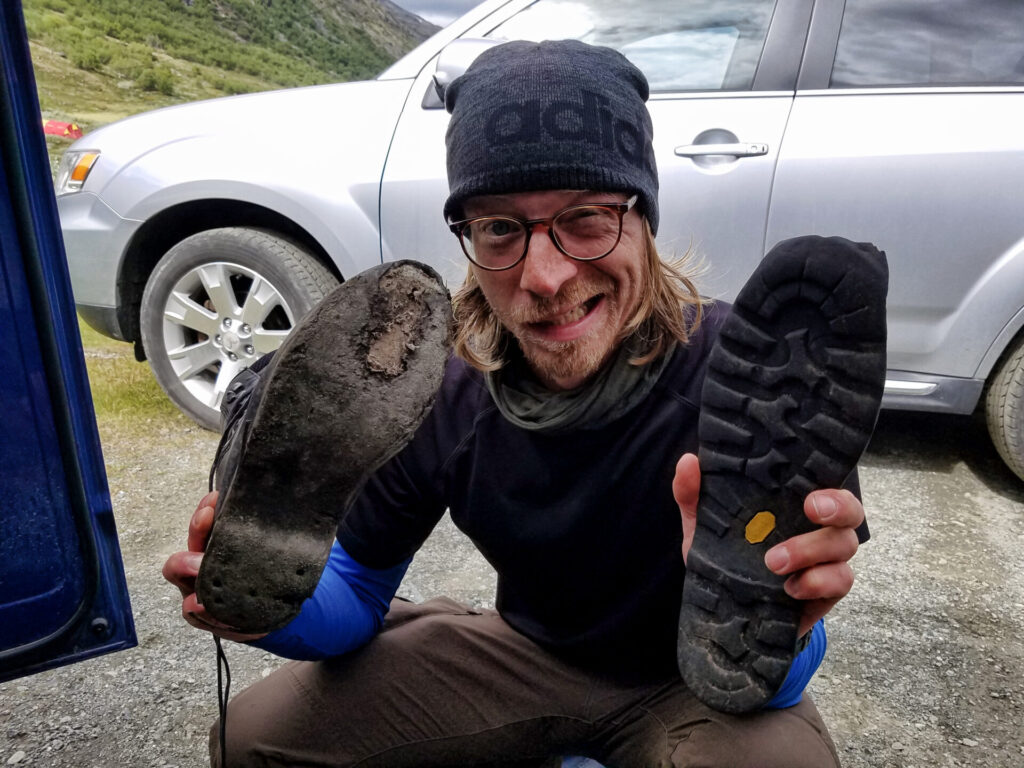
<instances>
[{"instance_id":1,"label":"dark grey knitted beanie with adidas lettering","mask_svg":"<svg viewBox=\"0 0 1024 768\"><path fill-rule=\"evenodd\" d=\"M488 48L447 87L449 199L540 189L636 193L657 232L647 80L611 48L577 40Z\"/></svg>"}]
</instances>

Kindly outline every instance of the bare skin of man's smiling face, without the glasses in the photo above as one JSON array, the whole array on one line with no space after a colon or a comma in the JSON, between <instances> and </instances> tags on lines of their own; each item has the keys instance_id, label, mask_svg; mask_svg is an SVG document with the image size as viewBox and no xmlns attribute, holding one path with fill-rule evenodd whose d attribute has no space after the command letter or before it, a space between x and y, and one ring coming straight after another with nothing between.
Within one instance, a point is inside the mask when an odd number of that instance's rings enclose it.
<instances>
[{"instance_id":1,"label":"bare skin of man's smiling face, without the glasses","mask_svg":"<svg viewBox=\"0 0 1024 768\"><path fill-rule=\"evenodd\" d=\"M464 211L467 218L539 219L571 205L624 200L622 195L581 190L515 193L470 198ZM618 245L597 261L569 258L538 226L526 258L511 269L470 268L534 373L550 389L562 390L585 383L617 348L643 291L645 260L643 223L634 209L623 218Z\"/></svg>"}]
</instances>

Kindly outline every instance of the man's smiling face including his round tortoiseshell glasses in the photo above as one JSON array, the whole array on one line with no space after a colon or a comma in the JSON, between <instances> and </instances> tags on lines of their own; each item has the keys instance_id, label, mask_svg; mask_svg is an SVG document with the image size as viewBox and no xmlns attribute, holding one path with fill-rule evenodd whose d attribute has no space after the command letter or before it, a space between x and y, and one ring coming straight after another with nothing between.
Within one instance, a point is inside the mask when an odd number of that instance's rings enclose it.
<instances>
[{"instance_id":1,"label":"man's smiling face including his round tortoiseshell glasses","mask_svg":"<svg viewBox=\"0 0 1024 768\"><path fill-rule=\"evenodd\" d=\"M597 373L639 307L644 225L627 215L636 196L622 197L570 190L474 197L465 204L470 218L453 225L478 267L473 273L485 305L553 391L575 389ZM557 213L538 215L550 211ZM547 232L525 260L538 226Z\"/></svg>"}]
</instances>

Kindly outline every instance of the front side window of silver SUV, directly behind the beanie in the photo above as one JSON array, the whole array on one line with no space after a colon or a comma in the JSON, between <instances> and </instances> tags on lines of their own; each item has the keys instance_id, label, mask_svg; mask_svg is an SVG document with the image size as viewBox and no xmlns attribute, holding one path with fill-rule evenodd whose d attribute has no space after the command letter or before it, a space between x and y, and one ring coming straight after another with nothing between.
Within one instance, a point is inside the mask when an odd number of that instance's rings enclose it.
<instances>
[{"instance_id":1,"label":"front side window of silver SUV, directly behind the beanie","mask_svg":"<svg viewBox=\"0 0 1024 768\"><path fill-rule=\"evenodd\" d=\"M487 37L607 45L652 91L748 90L774 8L775 0L539 0Z\"/></svg>"}]
</instances>

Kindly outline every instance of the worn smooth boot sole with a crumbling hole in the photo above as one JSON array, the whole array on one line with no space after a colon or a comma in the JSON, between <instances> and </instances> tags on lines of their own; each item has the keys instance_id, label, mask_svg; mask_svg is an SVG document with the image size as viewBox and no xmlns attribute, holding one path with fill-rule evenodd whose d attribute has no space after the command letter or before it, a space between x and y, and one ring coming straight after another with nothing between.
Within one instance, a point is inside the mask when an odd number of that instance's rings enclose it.
<instances>
[{"instance_id":1,"label":"worn smooth boot sole with a crumbling hole","mask_svg":"<svg viewBox=\"0 0 1024 768\"><path fill-rule=\"evenodd\" d=\"M220 489L197 585L211 615L269 632L298 613L349 502L433 404L452 334L440 276L412 261L355 275L296 327Z\"/></svg>"}]
</instances>

